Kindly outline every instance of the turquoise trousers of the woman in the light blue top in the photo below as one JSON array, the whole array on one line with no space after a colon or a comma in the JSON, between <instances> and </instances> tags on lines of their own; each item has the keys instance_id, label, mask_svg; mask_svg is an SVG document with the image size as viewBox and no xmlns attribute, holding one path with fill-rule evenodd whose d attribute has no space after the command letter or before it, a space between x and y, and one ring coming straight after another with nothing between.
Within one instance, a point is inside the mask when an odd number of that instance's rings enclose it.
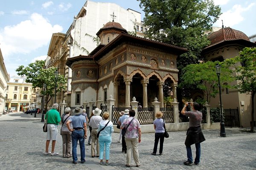
<instances>
[{"instance_id":1,"label":"turquoise trousers of the woman in the light blue top","mask_svg":"<svg viewBox=\"0 0 256 170\"><path fill-rule=\"evenodd\" d=\"M103 159L103 152L105 146L105 157L109 160L109 148L112 142L111 136L99 136L99 159Z\"/></svg>"}]
</instances>

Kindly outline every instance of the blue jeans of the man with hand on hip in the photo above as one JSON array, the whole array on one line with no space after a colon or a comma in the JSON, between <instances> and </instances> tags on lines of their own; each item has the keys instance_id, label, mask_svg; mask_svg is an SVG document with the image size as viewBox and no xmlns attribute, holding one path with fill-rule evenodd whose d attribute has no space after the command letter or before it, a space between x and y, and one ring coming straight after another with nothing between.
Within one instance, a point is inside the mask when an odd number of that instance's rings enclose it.
<instances>
[{"instance_id":1,"label":"blue jeans of the man with hand on hip","mask_svg":"<svg viewBox=\"0 0 256 170\"><path fill-rule=\"evenodd\" d=\"M77 162L77 153L76 153L76 147L77 142L79 141L80 145L80 153L81 153L81 161L85 161L85 148L84 148L84 130L74 130L72 132L72 156L73 161Z\"/></svg>"}]
</instances>

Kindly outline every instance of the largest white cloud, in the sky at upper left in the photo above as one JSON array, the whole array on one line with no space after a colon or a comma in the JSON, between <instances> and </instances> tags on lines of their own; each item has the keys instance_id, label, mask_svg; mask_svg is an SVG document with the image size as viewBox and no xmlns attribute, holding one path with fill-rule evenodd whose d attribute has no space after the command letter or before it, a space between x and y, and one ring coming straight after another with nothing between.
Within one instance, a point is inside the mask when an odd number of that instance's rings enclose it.
<instances>
[{"instance_id":1,"label":"largest white cloud, in the sky at upper left","mask_svg":"<svg viewBox=\"0 0 256 170\"><path fill-rule=\"evenodd\" d=\"M29 54L48 44L52 33L61 32L59 25L52 26L42 15L33 13L29 20L0 29L0 47L3 56Z\"/></svg>"}]
</instances>

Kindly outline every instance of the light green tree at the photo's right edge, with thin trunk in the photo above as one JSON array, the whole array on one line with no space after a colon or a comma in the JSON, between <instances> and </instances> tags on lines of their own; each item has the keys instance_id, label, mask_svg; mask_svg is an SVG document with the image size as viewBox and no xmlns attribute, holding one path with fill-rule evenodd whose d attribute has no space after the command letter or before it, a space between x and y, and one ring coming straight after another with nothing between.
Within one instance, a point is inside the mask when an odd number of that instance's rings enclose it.
<instances>
[{"instance_id":1,"label":"light green tree at the photo's right edge, with thin trunk","mask_svg":"<svg viewBox=\"0 0 256 170\"><path fill-rule=\"evenodd\" d=\"M251 129L253 132L254 122L254 96L256 92L256 48L244 48L239 56L226 59L224 64L229 66L235 74L232 76L237 80L233 87L240 93L250 94L251 96Z\"/></svg>"}]
</instances>

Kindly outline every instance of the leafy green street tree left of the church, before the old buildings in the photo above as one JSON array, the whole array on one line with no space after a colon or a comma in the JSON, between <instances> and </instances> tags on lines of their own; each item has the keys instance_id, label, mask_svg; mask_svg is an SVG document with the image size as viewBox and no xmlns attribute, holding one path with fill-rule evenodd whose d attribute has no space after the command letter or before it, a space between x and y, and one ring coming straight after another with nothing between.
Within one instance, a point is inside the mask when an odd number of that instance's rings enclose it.
<instances>
[{"instance_id":1,"label":"leafy green street tree left of the church, before the old buildings","mask_svg":"<svg viewBox=\"0 0 256 170\"><path fill-rule=\"evenodd\" d=\"M43 88L43 84L46 84L46 90L41 91L41 94L46 96L46 105L50 99L55 96L55 77L54 71L55 67L50 67L44 69L44 61L36 60L35 62L30 63L27 67L20 65L16 71L19 76L26 76L26 82L32 83L33 88ZM57 79L57 88L56 91L62 91L65 89L67 83L67 78L63 75L59 75Z\"/></svg>"}]
</instances>

